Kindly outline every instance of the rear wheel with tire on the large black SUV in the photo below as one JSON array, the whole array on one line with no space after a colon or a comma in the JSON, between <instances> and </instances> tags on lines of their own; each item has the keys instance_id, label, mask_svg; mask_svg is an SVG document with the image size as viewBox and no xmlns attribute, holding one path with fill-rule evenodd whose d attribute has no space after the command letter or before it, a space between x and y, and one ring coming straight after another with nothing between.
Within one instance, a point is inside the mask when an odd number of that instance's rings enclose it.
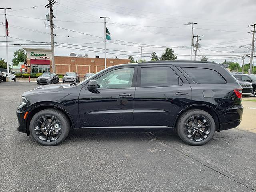
<instances>
[{"instance_id":1,"label":"rear wheel with tire on the large black SUV","mask_svg":"<svg viewBox=\"0 0 256 192\"><path fill-rule=\"evenodd\" d=\"M193 117L194 121L192 120L191 117ZM203 122L204 119L207 122L202 123L201 127L200 126L194 127L193 124L190 124L191 122L197 121L197 118L195 119L194 117L197 117L199 119L198 120L199 124L201 124L200 122ZM206 126L207 124L209 124L209 126ZM214 119L212 118L212 116L209 113L207 113L206 111L200 110L200 109L191 109L191 110L185 111L179 117L177 124L176 124L176 128L177 128L178 136L186 144L203 145L212 139L214 132L215 132L215 122L214 122ZM196 138L194 138L194 136L196 136ZM200 140L200 139L202 139L202 140Z\"/></svg>"}]
</instances>

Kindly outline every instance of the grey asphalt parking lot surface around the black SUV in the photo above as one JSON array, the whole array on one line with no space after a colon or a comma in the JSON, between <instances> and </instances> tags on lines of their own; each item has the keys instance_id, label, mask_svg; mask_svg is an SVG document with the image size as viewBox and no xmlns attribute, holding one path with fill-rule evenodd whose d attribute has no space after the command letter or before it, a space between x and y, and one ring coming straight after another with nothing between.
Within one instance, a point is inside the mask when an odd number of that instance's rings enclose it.
<instances>
[{"instance_id":1,"label":"grey asphalt parking lot surface around the black SUV","mask_svg":"<svg viewBox=\"0 0 256 192\"><path fill-rule=\"evenodd\" d=\"M0 84L0 191L256 191L256 133L239 127L204 146L156 132L71 132L40 146L16 131L20 96L37 86Z\"/></svg>"}]
</instances>

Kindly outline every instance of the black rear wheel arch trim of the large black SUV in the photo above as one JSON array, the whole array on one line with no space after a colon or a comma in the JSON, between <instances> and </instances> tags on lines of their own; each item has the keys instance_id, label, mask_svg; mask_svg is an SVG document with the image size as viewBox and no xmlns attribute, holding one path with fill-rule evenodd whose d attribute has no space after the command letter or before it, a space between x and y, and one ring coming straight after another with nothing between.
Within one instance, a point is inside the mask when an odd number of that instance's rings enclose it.
<instances>
[{"instance_id":1,"label":"black rear wheel arch trim of the large black SUV","mask_svg":"<svg viewBox=\"0 0 256 192\"><path fill-rule=\"evenodd\" d=\"M206 104L193 104L193 105L187 106L186 108L182 109L178 113L178 115L176 116L176 118L174 120L174 124L173 124L174 129L176 129L176 124L177 124L178 118L181 116L181 114L190 109L201 109L201 110L208 112L215 121L216 131L220 131L220 123L221 123L220 115L218 114L216 109L214 109L213 107L208 106Z\"/></svg>"}]
</instances>

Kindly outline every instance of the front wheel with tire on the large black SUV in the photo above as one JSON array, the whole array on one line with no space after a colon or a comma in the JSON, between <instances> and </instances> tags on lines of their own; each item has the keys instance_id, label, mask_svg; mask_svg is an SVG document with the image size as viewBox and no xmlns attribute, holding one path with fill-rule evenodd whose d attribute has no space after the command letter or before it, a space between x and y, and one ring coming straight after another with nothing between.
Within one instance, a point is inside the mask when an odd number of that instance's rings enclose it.
<instances>
[{"instance_id":1,"label":"front wheel with tire on the large black SUV","mask_svg":"<svg viewBox=\"0 0 256 192\"><path fill-rule=\"evenodd\" d=\"M40 123L38 124L38 122L40 122L39 119L41 120L41 122L43 121L42 117L44 117L46 119L46 121L44 121L44 122L47 122L47 120L50 121L50 116L54 117L54 121L55 121L55 124L53 125L54 131L50 128L44 129L44 128L42 128L42 124L41 124L41 126L40 126ZM47 117L49 117L49 118L47 119ZM57 128L55 127L57 125L57 122L58 122L58 126L59 126L58 130L56 130ZM48 122L48 123L50 123L50 122ZM40 126L41 128L38 128L38 126ZM38 130L36 130L36 128L38 128ZM42 130L43 131L48 130L47 134L46 134L46 131L42 132ZM68 118L66 117L66 115L64 113L62 113L56 109L45 109L45 110L42 110L42 111L36 113L33 116L33 118L31 119L30 124L29 124L29 131L30 131L30 134L32 135L32 137L34 138L34 140L36 140L36 142L38 142L39 144L44 145L44 146L55 146L55 145L60 144L68 136L69 130L70 130L70 122L69 122ZM55 134L56 132L58 134ZM50 138L48 137L48 135L50 136ZM54 136L55 136L55 138L54 138ZM52 138L54 140L52 140Z\"/></svg>"}]
</instances>

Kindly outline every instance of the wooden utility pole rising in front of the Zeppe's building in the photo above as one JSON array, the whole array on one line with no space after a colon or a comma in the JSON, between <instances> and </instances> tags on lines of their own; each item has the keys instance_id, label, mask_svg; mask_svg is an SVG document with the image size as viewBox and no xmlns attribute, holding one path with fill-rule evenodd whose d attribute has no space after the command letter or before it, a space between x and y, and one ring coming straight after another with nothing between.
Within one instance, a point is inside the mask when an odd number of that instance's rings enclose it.
<instances>
[{"instance_id":1,"label":"wooden utility pole rising in front of the Zeppe's building","mask_svg":"<svg viewBox=\"0 0 256 192\"><path fill-rule=\"evenodd\" d=\"M52 22L52 18L54 18L54 15L52 13L52 6L56 3L54 0L49 0L49 3L44 6L50 9L50 28L51 28L51 49L52 49L52 72L55 73L55 58L54 58L54 33L53 33L53 27L54 24Z\"/></svg>"}]
</instances>

